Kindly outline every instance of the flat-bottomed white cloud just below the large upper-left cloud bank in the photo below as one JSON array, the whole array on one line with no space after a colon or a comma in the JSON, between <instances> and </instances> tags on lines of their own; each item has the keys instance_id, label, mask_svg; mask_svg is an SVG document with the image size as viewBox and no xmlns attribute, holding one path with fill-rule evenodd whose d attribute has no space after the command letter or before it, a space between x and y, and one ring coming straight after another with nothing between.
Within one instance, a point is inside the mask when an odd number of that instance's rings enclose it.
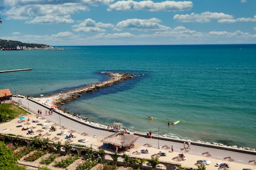
<instances>
[{"instance_id":1,"label":"flat-bottomed white cloud just below the large upper-left cloud bank","mask_svg":"<svg viewBox=\"0 0 256 170\"><path fill-rule=\"evenodd\" d=\"M31 21L27 21L25 23L40 23L40 24L44 24L44 23L73 23L74 20L70 19L70 15L66 15L66 16L50 16L50 15L46 15L46 16L36 16L33 20Z\"/></svg>"}]
</instances>

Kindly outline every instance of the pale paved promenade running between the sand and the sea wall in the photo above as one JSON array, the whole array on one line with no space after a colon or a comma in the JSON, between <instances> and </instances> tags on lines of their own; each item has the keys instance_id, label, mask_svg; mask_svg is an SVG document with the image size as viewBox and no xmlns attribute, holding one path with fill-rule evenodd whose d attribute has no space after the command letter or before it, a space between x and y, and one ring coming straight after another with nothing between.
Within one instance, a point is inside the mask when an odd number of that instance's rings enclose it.
<instances>
[{"instance_id":1,"label":"pale paved promenade running between the sand and the sea wall","mask_svg":"<svg viewBox=\"0 0 256 170\"><path fill-rule=\"evenodd\" d=\"M104 138L106 136L113 134L112 132L97 130L97 129L79 124L77 122L74 122L74 121L66 118L66 117L58 115L57 113L54 113L53 115L50 115L50 116L45 115L45 111L48 109L46 109L45 107L40 106L34 102L31 102L29 100L26 100L23 98L16 98L16 97L13 97L12 100L15 102L18 102L18 100L21 100L22 105L34 113L37 113L37 110L41 109L42 117L49 119L49 120L51 120L51 122L56 123L60 126L65 126L68 129L75 130L77 133L87 132L89 135L91 135L91 136L96 135L98 138ZM135 143L138 143L140 145L143 145L144 143L151 143L154 148L158 148L158 146L165 145L165 144L167 144L169 146L173 145L174 151L176 151L176 152L180 152L181 149L183 148L183 144L179 143L179 142L158 140L158 139L149 139L149 138L144 138L144 137L139 137ZM214 149L214 148L208 148L208 147L201 147L198 145L191 145L190 151L186 154L201 156L201 154L204 152L209 152L211 154L211 158L214 158L214 159L223 160L224 157L230 156L231 158L233 158L235 160L234 162L244 163L244 164L249 164L248 160L253 160L253 159L256 160L256 155L233 152L233 151L226 151L226 150Z\"/></svg>"}]
</instances>

